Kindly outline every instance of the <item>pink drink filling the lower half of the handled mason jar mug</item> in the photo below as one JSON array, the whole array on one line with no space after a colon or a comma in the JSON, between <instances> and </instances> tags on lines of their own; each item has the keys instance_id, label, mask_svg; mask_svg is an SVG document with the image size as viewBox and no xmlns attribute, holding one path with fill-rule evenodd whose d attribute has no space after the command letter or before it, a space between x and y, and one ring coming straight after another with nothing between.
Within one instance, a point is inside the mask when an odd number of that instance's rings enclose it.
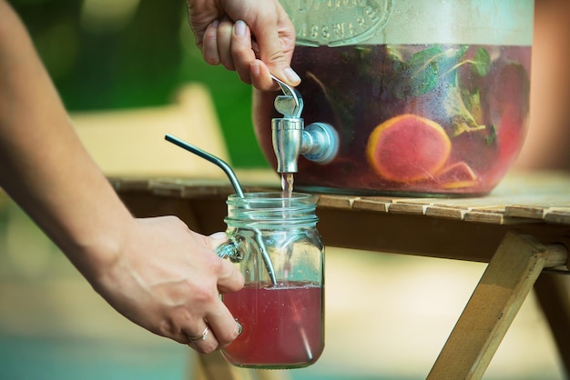
<instances>
[{"instance_id":1,"label":"pink drink filling the lower half of the handled mason jar mug","mask_svg":"<svg viewBox=\"0 0 570 380\"><path fill-rule=\"evenodd\" d=\"M241 335L222 353L235 365L303 367L317 361L324 348L322 289L308 283L249 287L223 295L237 318Z\"/></svg>"}]
</instances>

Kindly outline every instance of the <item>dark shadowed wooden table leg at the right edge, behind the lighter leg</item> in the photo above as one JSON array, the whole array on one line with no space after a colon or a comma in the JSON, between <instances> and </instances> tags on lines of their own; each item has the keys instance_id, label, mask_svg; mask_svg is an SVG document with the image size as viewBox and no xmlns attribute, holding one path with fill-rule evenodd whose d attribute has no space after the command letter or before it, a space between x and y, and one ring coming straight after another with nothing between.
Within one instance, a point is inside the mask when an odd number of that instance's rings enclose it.
<instances>
[{"instance_id":1,"label":"dark shadowed wooden table leg at the right edge, behind the lighter leg","mask_svg":"<svg viewBox=\"0 0 570 380\"><path fill-rule=\"evenodd\" d=\"M570 276L543 273L534 293L552 330L566 375L570 376Z\"/></svg>"}]
</instances>

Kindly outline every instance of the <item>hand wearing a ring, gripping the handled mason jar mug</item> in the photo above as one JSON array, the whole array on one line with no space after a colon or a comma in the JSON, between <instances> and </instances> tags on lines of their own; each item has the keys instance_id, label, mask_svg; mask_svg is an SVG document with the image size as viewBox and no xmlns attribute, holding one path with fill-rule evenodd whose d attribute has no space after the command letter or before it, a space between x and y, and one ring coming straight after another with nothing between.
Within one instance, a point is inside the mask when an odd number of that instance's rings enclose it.
<instances>
[{"instance_id":1,"label":"hand wearing a ring, gripping the handled mason jar mug","mask_svg":"<svg viewBox=\"0 0 570 380\"><path fill-rule=\"evenodd\" d=\"M199 235L175 216L133 219L128 230L117 259L89 278L97 292L137 325L200 353L229 345L239 329L219 293L244 280L213 252L225 234ZM205 339L189 338L207 327Z\"/></svg>"}]
</instances>

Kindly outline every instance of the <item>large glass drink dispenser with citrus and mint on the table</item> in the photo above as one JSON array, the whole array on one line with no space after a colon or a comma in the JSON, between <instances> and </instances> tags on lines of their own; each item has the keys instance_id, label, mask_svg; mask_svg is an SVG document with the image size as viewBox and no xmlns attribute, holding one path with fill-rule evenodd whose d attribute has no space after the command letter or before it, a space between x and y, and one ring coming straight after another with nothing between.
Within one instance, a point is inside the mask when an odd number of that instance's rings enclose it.
<instances>
[{"instance_id":1,"label":"large glass drink dispenser with citrus and mint on the table","mask_svg":"<svg viewBox=\"0 0 570 380\"><path fill-rule=\"evenodd\" d=\"M484 195L514 163L529 116L533 0L280 0L297 32L305 125L338 132L298 189ZM260 146L273 101L254 92Z\"/></svg>"}]
</instances>

